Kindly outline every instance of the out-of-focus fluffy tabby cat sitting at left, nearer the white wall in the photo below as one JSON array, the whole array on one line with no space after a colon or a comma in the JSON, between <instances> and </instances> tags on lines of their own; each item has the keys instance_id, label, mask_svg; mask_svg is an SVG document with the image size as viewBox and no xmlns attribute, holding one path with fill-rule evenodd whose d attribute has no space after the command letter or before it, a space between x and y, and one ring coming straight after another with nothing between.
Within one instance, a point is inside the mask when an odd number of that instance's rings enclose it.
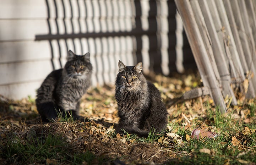
<instances>
[{"instance_id":1,"label":"out-of-focus fluffy tabby cat sitting at left, nearer the white wall","mask_svg":"<svg viewBox=\"0 0 256 165\"><path fill-rule=\"evenodd\" d=\"M64 68L52 71L37 90L36 105L42 121L53 121L58 117L72 115L75 120L83 120L79 115L80 100L91 85L92 64L90 54L76 55L71 50L67 54ZM69 116L70 117L70 116Z\"/></svg>"}]
</instances>

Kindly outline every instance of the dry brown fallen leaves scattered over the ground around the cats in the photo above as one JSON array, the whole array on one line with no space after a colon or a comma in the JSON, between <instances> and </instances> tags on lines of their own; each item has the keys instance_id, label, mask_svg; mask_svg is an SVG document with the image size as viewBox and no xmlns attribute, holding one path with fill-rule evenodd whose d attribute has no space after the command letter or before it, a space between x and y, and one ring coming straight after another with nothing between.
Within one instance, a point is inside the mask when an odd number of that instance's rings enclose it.
<instances>
[{"instance_id":1,"label":"dry brown fallen leaves scattered over the ground around the cats","mask_svg":"<svg viewBox=\"0 0 256 165\"><path fill-rule=\"evenodd\" d=\"M217 119L208 117L209 113L216 113L213 100L209 96L180 104L170 104L171 100L180 97L184 92L195 87L202 87L198 73L181 76L177 74L171 78L162 75L149 75L147 78L154 82L162 93L169 113L167 132L155 135L153 140L115 133L114 124L118 123L119 119L114 98L114 86L105 85L91 88L83 96L80 114L89 119L85 122L41 123L33 99L10 100L1 96L0 145L5 146L8 139L15 141L15 137L18 137L21 142L26 142L29 139L53 134L61 136L63 141L69 145L70 150L80 153L89 151L96 157L103 157L105 160L103 164L164 164L169 160L179 161L182 156L191 155L193 150L188 153L175 148L188 145L192 141L191 131L200 128L224 134L229 142L221 142L221 144L228 145L229 149L234 147L239 150L255 149L254 146L246 145L246 142L251 140L250 136L255 134L255 129L244 126L246 123L255 124L255 99L245 101L244 97L240 97L238 105L229 106L226 116L231 114L230 120L240 123L241 130L225 134L225 128L216 127ZM227 104L230 103L230 100L228 97L225 98ZM232 122L228 126L232 127ZM215 154L214 150L207 148L202 148L199 152ZM238 155L238 161L241 164L248 163L248 161L240 159L245 152ZM59 163L59 160L46 158L43 164ZM68 164L68 162L66 163ZM40 163L37 162L37 164ZM226 164L229 164L229 160Z\"/></svg>"}]
</instances>

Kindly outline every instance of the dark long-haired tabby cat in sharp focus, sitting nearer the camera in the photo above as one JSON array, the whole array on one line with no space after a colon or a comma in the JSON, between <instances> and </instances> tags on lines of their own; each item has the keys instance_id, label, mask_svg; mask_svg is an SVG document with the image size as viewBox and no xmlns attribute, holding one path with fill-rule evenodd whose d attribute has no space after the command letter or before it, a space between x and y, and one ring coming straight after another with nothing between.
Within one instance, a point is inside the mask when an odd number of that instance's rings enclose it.
<instances>
[{"instance_id":1,"label":"dark long-haired tabby cat in sharp focus, sitting nearer the camera","mask_svg":"<svg viewBox=\"0 0 256 165\"><path fill-rule=\"evenodd\" d=\"M116 131L147 137L150 131L165 131L167 110L159 90L142 74L142 63L125 66L118 62L115 99L120 117Z\"/></svg>"}]
</instances>

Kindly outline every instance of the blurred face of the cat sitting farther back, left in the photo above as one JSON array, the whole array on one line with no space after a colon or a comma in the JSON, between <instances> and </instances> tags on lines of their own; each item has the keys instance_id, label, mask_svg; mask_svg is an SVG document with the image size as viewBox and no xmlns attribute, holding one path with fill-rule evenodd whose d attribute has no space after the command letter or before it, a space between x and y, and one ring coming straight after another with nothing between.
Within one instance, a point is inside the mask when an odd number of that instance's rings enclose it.
<instances>
[{"instance_id":1,"label":"blurred face of the cat sitting farther back, left","mask_svg":"<svg viewBox=\"0 0 256 165\"><path fill-rule=\"evenodd\" d=\"M64 67L67 76L72 78L86 78L88 73L92 71L92 64L90 63L89 58L89 53L80 56L69 50L67 63Z\"/></svg>"}]
</instances>

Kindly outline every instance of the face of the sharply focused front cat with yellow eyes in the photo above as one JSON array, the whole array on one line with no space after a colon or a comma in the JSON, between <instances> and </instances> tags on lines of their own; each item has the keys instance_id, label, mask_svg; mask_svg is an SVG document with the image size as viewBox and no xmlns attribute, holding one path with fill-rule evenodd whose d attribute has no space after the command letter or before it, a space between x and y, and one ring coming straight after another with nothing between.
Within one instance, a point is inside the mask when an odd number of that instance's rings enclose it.
<instances>
[{"instance_id":1,"label":"face of the sharply focused front cat with yellow eyes","mask_svg":"<svg viewBox=\"0 0 256 165\"><path fill-rule=\"evenodd\" d=\"M140 88L144 76L142 75L142 63L136 66L125 66L118 62L119 73L116 77L116 88L120 90L137 90Z\"/></svg>"}]
</instances>

